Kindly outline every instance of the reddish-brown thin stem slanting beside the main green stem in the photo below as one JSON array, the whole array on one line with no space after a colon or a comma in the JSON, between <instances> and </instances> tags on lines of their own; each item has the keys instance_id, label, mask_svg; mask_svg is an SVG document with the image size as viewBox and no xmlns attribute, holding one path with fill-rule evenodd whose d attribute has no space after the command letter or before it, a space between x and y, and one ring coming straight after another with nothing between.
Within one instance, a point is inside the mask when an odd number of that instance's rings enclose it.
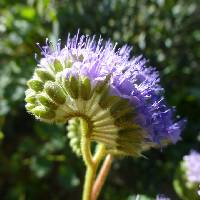
<instances>
[{"instance_id":1,"label":"reddish-brown thin stem slanting beside the main green stem","mask_svg":"<svg viewBox=\"0 0 200 200\"><path fill-rule=\"evenodd\" d=\"M101 167L98 177L94 183L91 200L96 200L98 198L101 189L105 183L106 177L108 176L108 173L110 171L112 161L113 157L110 154L108 154L106 156L106 159L104 160L103 166Z\"/></svg>"}]
</instances>

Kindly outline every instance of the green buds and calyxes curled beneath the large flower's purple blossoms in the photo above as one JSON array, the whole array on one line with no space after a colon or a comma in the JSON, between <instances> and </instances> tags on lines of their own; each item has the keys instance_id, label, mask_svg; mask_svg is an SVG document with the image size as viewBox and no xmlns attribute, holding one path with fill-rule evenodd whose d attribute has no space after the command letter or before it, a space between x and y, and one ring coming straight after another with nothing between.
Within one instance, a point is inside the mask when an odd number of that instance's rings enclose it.
<instances>
[{"instance_id":1,"label":"green buds and calyxes curled beneath the large flower's purple blossoms","mask_svg":"<svg viewBox=\"0 0 200 200\"><path fill-rule=\"evenodd\" d=\"M104 143L109 153L139 156L145 133L133 122L133 106L126 99L110 95L110 77L96 85L92 85L88 77L66 77L64 70L71 65L70 59L67 63L55 59L49 67L35 70L26 91L27 110L49 123L66 123L71 118L82 117L90 128L87 137ZM81 134L78 121L70 121L69 132L71 127ZM79 154L80 140L77 137L75 141L75 134L70 134L70 145Z\"/></svg>"}]
</instances>

